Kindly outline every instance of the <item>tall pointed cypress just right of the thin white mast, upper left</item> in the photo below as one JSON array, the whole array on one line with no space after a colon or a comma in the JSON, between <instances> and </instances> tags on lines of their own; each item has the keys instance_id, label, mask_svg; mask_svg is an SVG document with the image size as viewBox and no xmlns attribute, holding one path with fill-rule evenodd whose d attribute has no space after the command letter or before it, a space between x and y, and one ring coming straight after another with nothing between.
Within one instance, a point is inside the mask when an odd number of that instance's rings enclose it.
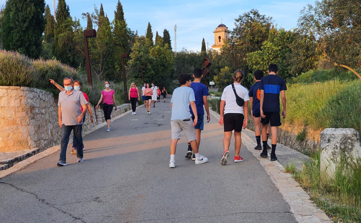
<instances>
[{"instance_id":1,"label":"tall pointed cypress just right of the thin white mast, upper left","mask_svg":"<svg viewBox=\"0 0 361 223\"><path fill-rule=\"evenodd\" d=\"M75 47L73 43L73 20L70 17L69 6L65 0L59 0L56 9L56 23L54 29L53 55L62 63L77 67Z\"/></svg>"}]
</instances>

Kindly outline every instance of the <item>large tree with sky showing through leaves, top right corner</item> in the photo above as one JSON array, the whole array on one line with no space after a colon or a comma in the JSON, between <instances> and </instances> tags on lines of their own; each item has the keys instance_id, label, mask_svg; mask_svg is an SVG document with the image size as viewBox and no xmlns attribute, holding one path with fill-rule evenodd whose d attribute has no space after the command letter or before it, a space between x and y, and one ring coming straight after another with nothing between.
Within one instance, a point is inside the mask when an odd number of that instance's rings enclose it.
<instances>
[{"instance_id":1,"label":"large tree with sky showing through leaves, top right corner","mask_svg":"<svg viewBox=\"0 0 361 223\"><path fill-rule=\"evenodd\" d=\"M322 0L307 5L297 28L309 35L318 54L337 67L353 72L361 60L361 4L359 0Z\"/></svg>"}]
</instances>

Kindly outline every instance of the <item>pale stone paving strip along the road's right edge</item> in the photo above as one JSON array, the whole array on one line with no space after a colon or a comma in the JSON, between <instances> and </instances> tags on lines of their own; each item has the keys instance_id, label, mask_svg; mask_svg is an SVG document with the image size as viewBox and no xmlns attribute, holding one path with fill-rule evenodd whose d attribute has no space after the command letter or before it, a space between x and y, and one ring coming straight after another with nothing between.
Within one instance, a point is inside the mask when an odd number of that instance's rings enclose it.
<instances>
[{"instance_id":1,"label":"pale stone paving strip along the road's right edge","mask_svg":"<svg viewBox=\"0 0 361 223\"><path fill-rule=\"evenodd\" d=\"M211 115L219 120L217 112L209 109ZM332 223L330 218L310 200L310 196L301 188L300 184L292 178L290 173L284 172L284 167L278 161L272 161L260 157L258 150L253 148L256 143L242 133L242 144L260 161L265 171L271 177L284 200L291 207L291 212L299 223Z\"/></svg>"}]
</instances>

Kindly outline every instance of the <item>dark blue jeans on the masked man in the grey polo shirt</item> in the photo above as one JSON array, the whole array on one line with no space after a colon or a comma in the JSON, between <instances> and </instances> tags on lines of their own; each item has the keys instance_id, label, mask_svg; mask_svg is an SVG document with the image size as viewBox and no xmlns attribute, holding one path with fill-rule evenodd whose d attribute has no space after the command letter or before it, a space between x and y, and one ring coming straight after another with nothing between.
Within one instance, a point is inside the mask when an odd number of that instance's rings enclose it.
<instances>
[{"instance_id":1,"label":"dark blue jeans on the masked man in the grey polo shirt","mask_svg":"<svg viewBox=\"0 0 361 223\"><path fill-rule=\"evenodd\" d=\"M71 130L74 132L75 140L77 141L77 157L83 158L83 138L82 138L83 125L62 125L61 126L61 142L60 142L60 158L59 160L66 161L66 148L69 143L69 136Z\"/></svg>"}]
</instances>

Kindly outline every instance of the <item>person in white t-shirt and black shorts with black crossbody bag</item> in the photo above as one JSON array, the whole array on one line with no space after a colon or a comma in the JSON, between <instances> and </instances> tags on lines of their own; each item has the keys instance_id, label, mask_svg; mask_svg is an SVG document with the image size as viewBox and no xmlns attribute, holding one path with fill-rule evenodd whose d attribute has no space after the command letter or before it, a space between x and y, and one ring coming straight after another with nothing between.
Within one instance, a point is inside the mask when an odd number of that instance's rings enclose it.
<instances>
[{"instance_id":1,"label":"person in white t-shirt and black shorts with black crossbody bag","mask_svg":"<svg viewBox=\"0 0 361 223\"><path fill-rule=\"evenodd\" d=\"M240 157L239 151L241 149L241 131L245 129L248 124L248 90L241 85L244 78L242 70L236 70L233 75L234 83L225 87L221 97L220 113L218 123L224 126L225 137L223 138L224 153L221 159L221 164L227 164L229 156L229 146L231 144L232 131L234 130L234 162L241 162L243 158ZM236 94L244 100L243 106L239 106L236 102Z\"/></svg>"}]
</instances>

